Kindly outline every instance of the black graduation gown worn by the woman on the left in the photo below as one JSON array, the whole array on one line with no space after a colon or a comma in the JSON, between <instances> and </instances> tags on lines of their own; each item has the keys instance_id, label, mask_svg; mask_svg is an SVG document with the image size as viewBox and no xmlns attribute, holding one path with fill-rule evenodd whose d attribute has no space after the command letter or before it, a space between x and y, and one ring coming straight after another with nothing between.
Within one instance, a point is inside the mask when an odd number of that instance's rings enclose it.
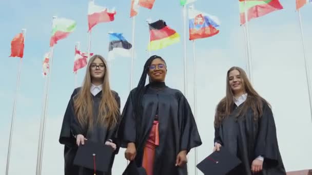
<instances>
[{"instance_id":1,"label":"black graduation gown worn by the woman on the left","mask_svg":"<svg viewBox=\"0 0 312 175\"><path fill-rule=\"evenodd\" d=\"M87 128L82 128L80 124L77 121L77 118L74 114L73 110L73 98L74 96L80 91L81 88L77 88L72 93L68 106L66 108L66 112L63 119L61 134L59 142L61 144L64 144L64 163L65 163L65 175L93 175L94 171L90 169L86 169L83 167L75 166L73 165L73 160L76 155L76 151L78 149L76 145L76 139L73 137L73 135L77 134L83 134L85 138L88 140L91 140L93 142L101 142L105 143L108 139L113 140L113 143L116 143L115 139L115 128L112 128L108 130L106 127L99 126L96 124L96 118L97 114L99 112L99 105L100 100L102 97L102 91L97 94L96 96L92 96L92 102L93 102L93 117L94 117L94 124L93 124L93 130L92 132L88 130ZM118 102L119 108L120 108L120 97L118 93L112 91L115 100ZM115 150L115 154L118 154L119 151L119 144L117 144L117 148ZM111 167L114 161L115 155L113 154L111 158L111 165L110 165L110 172L102 173L97 172L96 174L100 175L109 175L111 174Z\"/></svg>"}]
</instances>

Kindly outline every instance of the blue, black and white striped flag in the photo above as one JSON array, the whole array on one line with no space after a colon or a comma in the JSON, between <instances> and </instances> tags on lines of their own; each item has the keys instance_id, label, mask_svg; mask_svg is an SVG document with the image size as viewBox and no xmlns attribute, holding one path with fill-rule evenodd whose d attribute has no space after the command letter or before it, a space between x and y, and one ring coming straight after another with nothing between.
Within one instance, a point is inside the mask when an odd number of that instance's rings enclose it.
<instances>
[{"instance_id":1,"label":"blue, black and white striped flag","mask_svg":"<svg viewBox=\"0 0 312 175\"><path fill-rule=\"evenodd\" d=\"M132 45L122 33L109 33L108 60L114 59L115 55L131 57Z\"/></svg>"}]
</instances>

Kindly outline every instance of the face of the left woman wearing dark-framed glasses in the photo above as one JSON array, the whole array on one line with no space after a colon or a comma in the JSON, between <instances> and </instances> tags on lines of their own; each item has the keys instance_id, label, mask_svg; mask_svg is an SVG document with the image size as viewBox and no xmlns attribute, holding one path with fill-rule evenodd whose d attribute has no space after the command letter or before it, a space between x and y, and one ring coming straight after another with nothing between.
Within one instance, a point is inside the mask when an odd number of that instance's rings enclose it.
<instances>
[{"instance_id":1,"label":"face of the left woman wearing dark-framed glasses","mask_svg":"<svg viewBox=\"0 0 312 175\"><path fill-rule=\"evenodd\" d=\"M105 75L105 64L100 58L95 58L90 64L90 74L93 80L103 80Z\"/></svg>"}]
</instances>

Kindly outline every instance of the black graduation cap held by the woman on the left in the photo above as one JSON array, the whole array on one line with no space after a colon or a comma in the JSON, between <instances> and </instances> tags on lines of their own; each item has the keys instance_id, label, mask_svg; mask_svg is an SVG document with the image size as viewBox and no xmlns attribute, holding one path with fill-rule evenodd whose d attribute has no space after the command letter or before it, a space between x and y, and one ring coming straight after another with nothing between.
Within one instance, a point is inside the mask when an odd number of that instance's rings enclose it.
<instances>
[{"instance_id":1,"label":"black graduation cap held by the woman on the left","mask_svg":"<svg viewBox=\"0 0 312 175\"><path fill-rule=\"evenodd\" d=\"M106 172L110 168L112 154L111 146L85 140L85 144L79 146L73 164Z\"/></svg>"}]
</instances>

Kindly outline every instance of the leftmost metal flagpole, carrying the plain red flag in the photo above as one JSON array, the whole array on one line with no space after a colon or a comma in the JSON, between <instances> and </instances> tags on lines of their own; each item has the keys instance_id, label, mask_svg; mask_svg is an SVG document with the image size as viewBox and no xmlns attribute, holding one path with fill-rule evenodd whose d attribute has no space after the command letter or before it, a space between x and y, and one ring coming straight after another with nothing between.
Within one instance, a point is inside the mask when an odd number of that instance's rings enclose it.
<instances>
[{"instance_id":1,"label":"leftmost metal flagpole, carrying the plain red flag","mask_svg":"<svg viewBox=\"0 0 312 175\"><path fill-rule=\"evenodd\" d=\"M25 43L26 29L22 29L22 33L23 33L23 36L24 36L24 43ZM14 102L13 102L13 112L12 112L12 119L11 119L11 129L10 129L9 147L8 147L8 155L7 155L6 175L9 174L9 167L10 167L12 136L13 136L15 114L16 114L16 100L17 100L17 92L18 92L18 88L19 88L19 80L20 80L20 77L21 77L22 60L23 59L20 58L19 65L18 65L18 72L17 72L16 91L15 91L15 98L14 98Z\"/></svg>"}]
</instances>

